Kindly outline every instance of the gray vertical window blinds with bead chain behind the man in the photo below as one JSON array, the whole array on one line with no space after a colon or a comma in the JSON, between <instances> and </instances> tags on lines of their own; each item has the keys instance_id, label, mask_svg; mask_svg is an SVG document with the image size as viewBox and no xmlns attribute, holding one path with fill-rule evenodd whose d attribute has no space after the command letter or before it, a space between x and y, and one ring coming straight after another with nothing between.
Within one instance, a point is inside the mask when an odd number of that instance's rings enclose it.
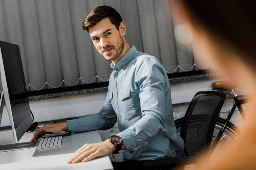
<instances>
[{"instance_id":1,"label":"gray vertical window blinds with bead chain behind the man","mask_svg":"<svg viewBox=\"0 0 256 170\"><path fill-rule=\"evenodd\" d=\"M20 46L30 91L107 82L112 72L94 48L84 17L96 6L112 6L127 26L129 45L151 54L167 73L195 71L186 48L175 42L166 0L0 0L0 40Z\"/></svg>"}]
</instances>

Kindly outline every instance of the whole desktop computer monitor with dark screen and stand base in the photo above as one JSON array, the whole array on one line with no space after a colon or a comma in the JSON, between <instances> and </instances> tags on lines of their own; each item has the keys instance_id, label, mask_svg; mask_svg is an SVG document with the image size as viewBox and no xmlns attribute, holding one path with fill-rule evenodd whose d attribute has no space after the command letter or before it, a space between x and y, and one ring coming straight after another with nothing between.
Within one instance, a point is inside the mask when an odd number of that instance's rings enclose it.
<instances>
[{"instance_id":1,"label":"whole desktop computer monitor with dark screen and stand base","mask_svg":"<svg viewBox=\"0 0 256 170\"><path fill-rule=\"evenodd\" d=\"M3 97L12 131L16 142L18 142L32 124L29 99L26 91L26 81L18 45L0 41L0 75ZM3 146L5 146L5 148L3 148ZM6 148L10 150L23 149L20 148L20 146L29 147L29 143L23 145L11 144L9 146L0 145L0 152L1 150L6 150ZM15 147L17 148L15 149Z\"/></svg>"}]
</instances>

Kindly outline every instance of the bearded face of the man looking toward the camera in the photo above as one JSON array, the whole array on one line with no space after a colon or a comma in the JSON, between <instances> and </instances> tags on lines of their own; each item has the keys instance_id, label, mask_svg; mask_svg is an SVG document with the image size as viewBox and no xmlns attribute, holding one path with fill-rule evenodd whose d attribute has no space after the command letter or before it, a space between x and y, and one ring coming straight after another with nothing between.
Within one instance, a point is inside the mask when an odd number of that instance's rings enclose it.
<instances>
[{"instance_id":1,"label":"bearded face of the man looking toward the camera","mask_svg":"<svg viewBox=\"0 0 256 170\"><path fill-rule=\"evenodd\" d=\"M109 18L91 26L88 31L94 46L106 60L114 60L121 54L125 43Z\"/></svg>"}]
</instances>

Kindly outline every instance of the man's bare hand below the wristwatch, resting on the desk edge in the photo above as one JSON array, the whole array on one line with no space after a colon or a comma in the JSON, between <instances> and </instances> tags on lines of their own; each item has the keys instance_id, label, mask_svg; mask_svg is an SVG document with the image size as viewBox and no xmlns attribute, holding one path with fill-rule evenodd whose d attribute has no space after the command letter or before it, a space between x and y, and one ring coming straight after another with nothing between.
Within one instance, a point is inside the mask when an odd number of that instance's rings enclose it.
<instances>
[{"instance_id":1,"label":"man's bare hand below the wristwatch, resting on the desk edge","mask_svg":"<svg viewBox=\"0 0 256 170\"><path fill-rule=\"evenodd\" d=\"M77 163L80 161L86 162L94 158L108 156L113 151L116 150L116 147L110 142L109 139L104 142L95 143L95 144L84 144L80 149L76 150L73 156L68 160L67 163Z\"/></svg>"}]
</instances>

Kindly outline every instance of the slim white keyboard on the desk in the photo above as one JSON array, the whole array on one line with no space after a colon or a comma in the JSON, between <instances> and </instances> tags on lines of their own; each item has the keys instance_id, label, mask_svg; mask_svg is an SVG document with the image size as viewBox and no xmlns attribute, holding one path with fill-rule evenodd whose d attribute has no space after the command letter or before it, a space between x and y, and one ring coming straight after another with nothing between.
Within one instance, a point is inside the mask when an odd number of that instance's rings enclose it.
<instances>
[{"instance_id":1,"label":"slim white keyboard on the desk","mask_svg":"<svg viewBox=\"0 0 256 170\"><path fill-rule=\"evenodd\" d=\"M61 146L62 136L42 137L36 149Z\"/></svg>"}]
</instances>

